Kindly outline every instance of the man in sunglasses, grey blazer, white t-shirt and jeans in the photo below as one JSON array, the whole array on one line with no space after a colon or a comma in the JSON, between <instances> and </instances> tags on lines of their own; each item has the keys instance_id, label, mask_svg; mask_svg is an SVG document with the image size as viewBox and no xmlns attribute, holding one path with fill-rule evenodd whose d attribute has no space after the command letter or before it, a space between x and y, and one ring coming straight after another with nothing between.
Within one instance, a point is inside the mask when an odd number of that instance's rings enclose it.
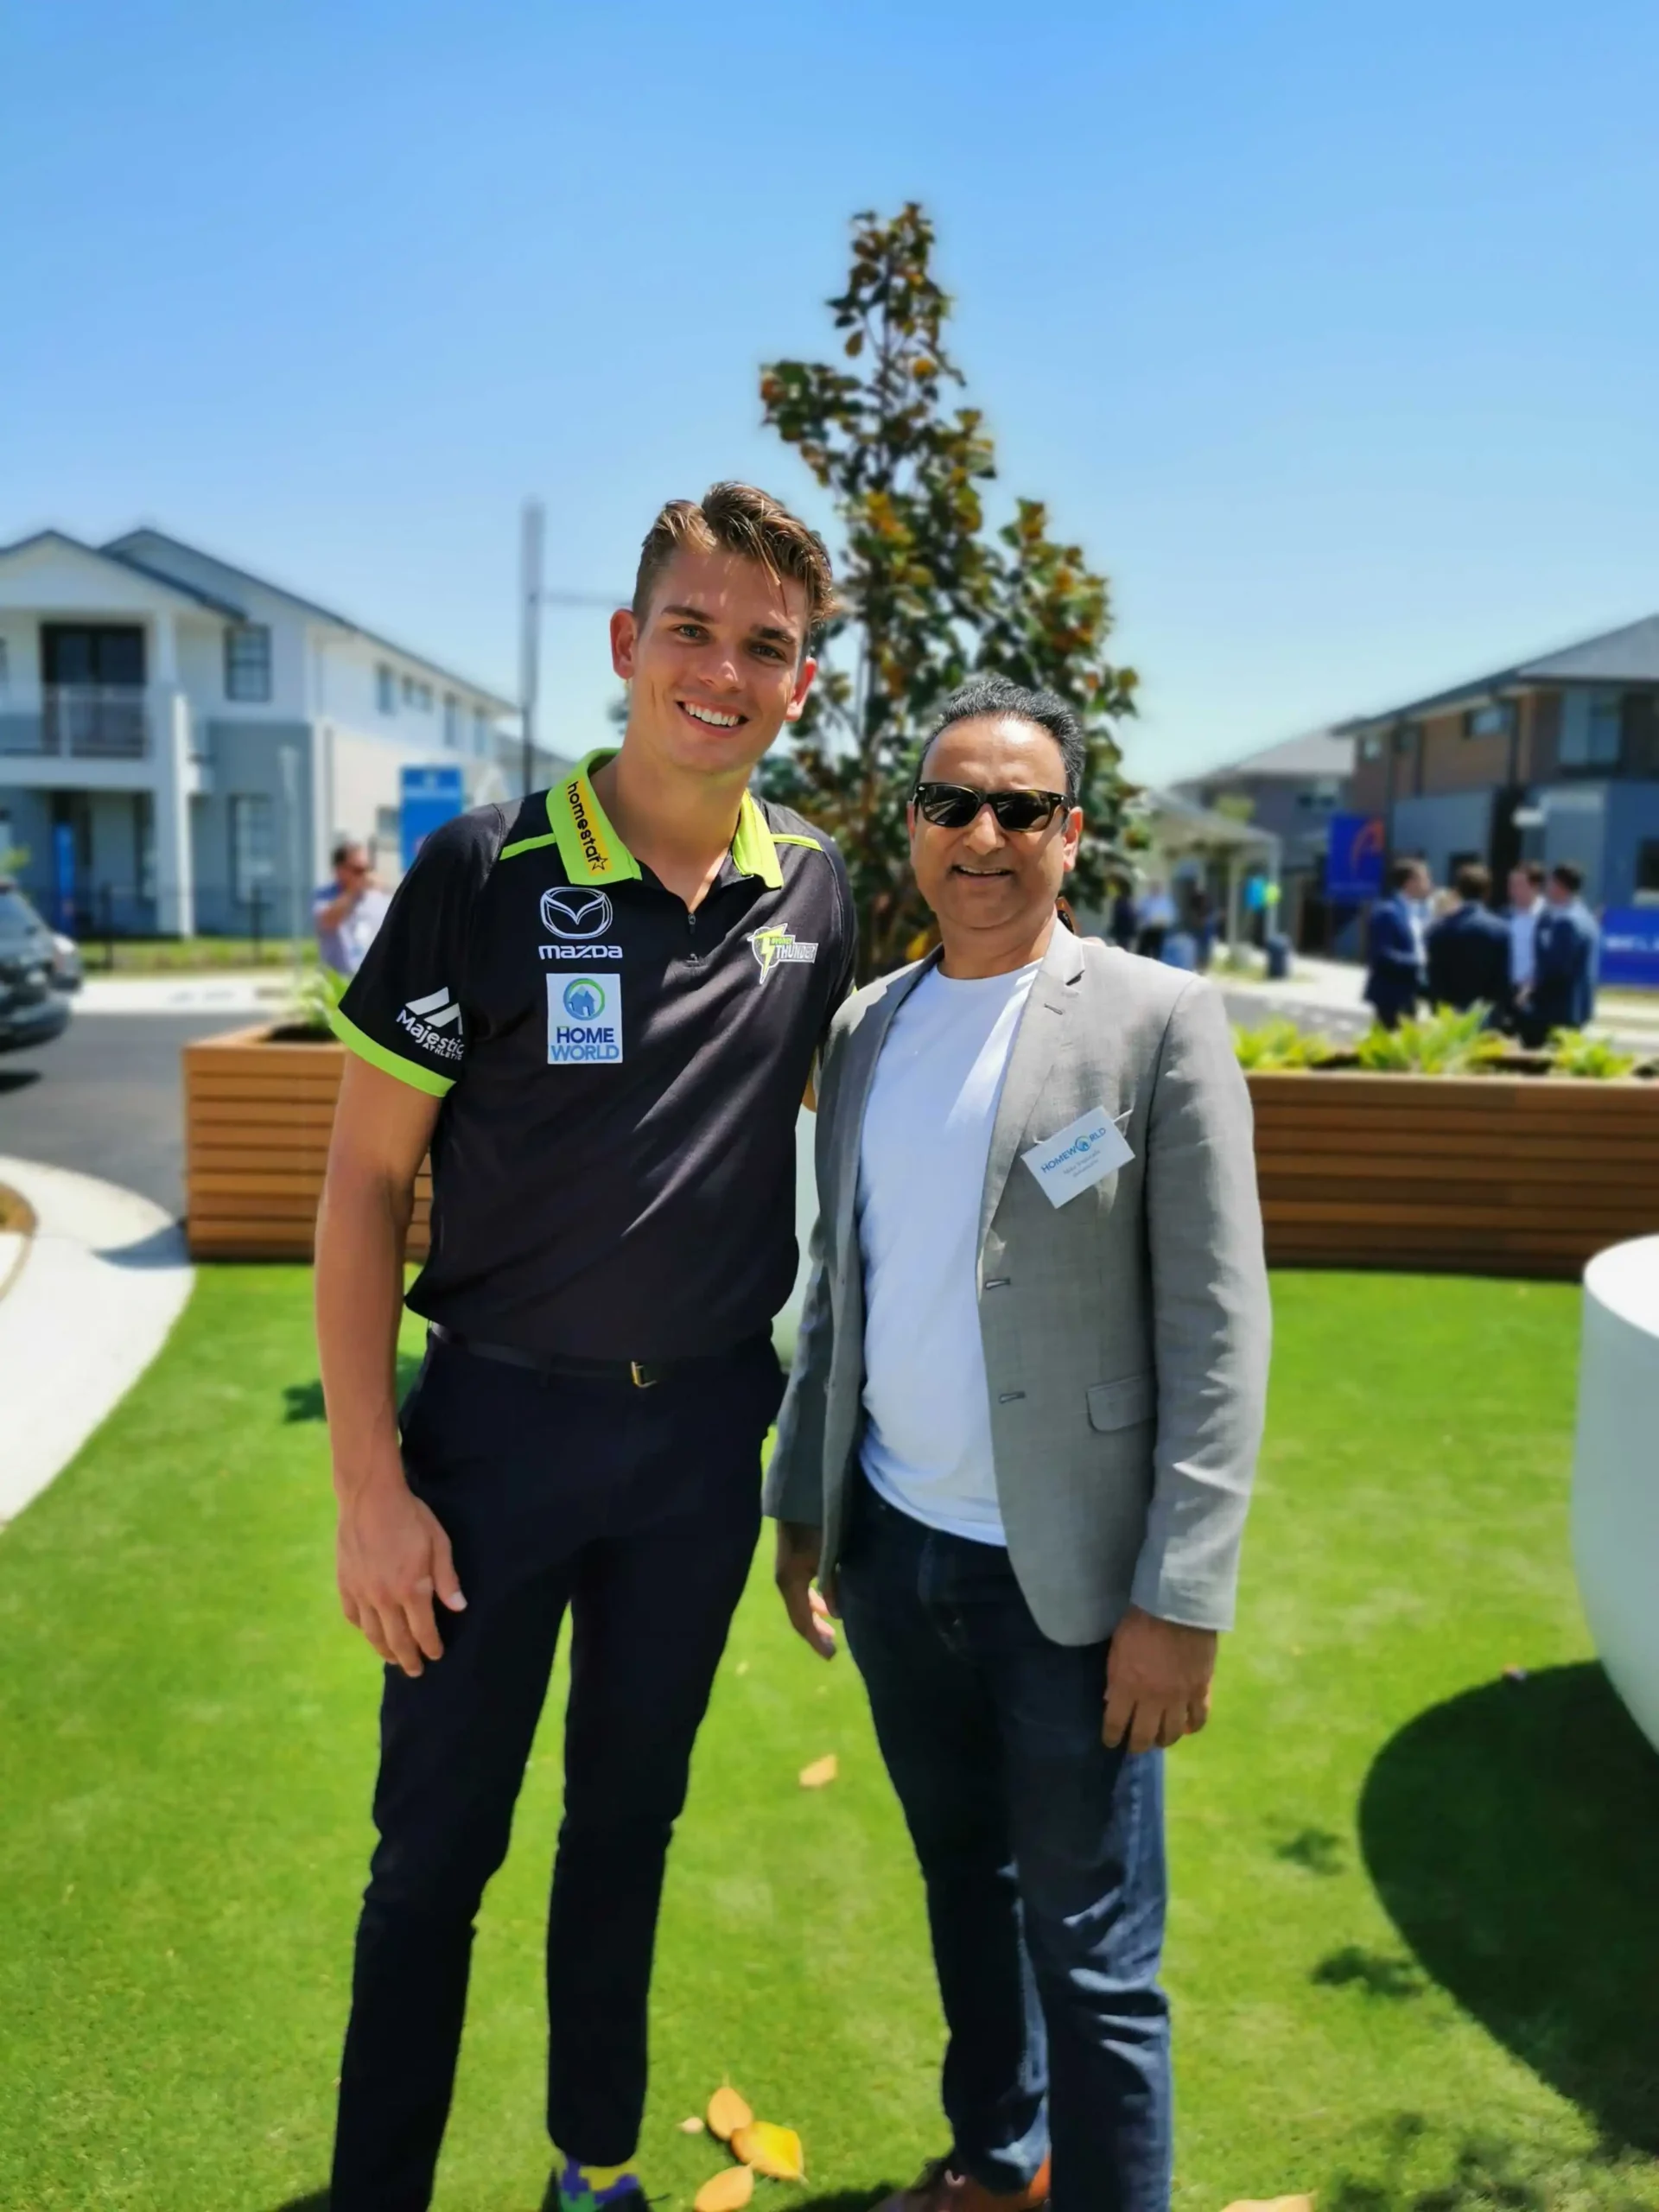
<instances>
[{"instance_id":1,"label":"man in sunglasses, grey blazer, white t-shirt and jeans","mask_svg":"<svg viewBox=\"0 0 1659 2212\"><path fill-rule=\"evenodd\" d=\"M1055 916L1084 743L978 679L909 810L940 951L836 1015L768 1475L927 1885L949 2152L887 2212L1164 2212L1161 1754L1203 1728L1267 1380L1221 1000Z\"/></svg>"}]
</instances>

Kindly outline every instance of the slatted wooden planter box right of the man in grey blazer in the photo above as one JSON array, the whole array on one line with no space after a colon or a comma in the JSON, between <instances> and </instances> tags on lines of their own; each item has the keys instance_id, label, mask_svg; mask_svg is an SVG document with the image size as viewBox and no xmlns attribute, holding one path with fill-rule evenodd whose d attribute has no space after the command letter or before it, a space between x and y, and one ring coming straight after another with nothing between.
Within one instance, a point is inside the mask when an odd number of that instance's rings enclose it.
<instances>
[{"instance_id":1,"label":"slatted wooden planter box right of the man in grey blazer","mask_svg":"<svg viewBox=\"0 0 1659 2212\"><path fill-rule=\"evenodd\" d=\"M1659 1230L1659 1084L1252 1073L1276 1267L1577 1279Z\"/></svg>"}]
</instances>

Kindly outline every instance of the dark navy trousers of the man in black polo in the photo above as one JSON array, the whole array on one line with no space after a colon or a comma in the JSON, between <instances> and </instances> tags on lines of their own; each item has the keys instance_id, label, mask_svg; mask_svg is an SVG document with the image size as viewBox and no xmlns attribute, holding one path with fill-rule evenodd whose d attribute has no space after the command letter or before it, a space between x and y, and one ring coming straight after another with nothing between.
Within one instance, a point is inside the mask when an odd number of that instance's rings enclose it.
<instances>
[{"instance_id":1,"label":"dark navy trousers of the man in black polo","mask_svg":"<svg viewBox=\"0 0 1659 2212\"><path fill-rule=\"evenodd\" d=\"M507 1856L566 1613L546 2124L584 2163L633 2157L664 1860L754 1555L781 1394L765 1338L653 1389L429 1345L403 1458L449 1533L467 1610L438 1608L445 1655L425 1674L385 1674L334 2212L431 2201L473 1918Z\"/></svg>"}]
</instances>

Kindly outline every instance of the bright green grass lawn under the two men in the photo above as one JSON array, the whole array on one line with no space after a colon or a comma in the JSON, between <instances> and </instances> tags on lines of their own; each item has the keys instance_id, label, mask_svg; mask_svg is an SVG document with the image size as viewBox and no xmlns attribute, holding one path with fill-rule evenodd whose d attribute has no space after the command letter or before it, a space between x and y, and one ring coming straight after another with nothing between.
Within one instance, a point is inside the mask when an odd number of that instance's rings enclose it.
<instances>
[{"instance_id":1,"label":"bright green grass lawn under the two men","mask_svg":"<svg viewBox=\"0 0 1659 2212\"><path fill-rule=\"evenodd\" d=\"M0 1535L0 2205L323 2188L378 1670L334 1610L303 1270L204 1270L146 1380ZM1566 1546L1577 1294L1281 1276L1243 1626L1170 1763L1179 2203L1659 2205L1659 1759ZM1506 1681L1504 1668L1526 1668ZM841 1781L796 1787L841 1759ZM557 1699L484 1907L445 2212L531 2212ZM763 1568L664 1913L646 2172L730 2075L779 2212L938 2148L920 1893L856 1674Z\"/></svg>"}]
</instances>

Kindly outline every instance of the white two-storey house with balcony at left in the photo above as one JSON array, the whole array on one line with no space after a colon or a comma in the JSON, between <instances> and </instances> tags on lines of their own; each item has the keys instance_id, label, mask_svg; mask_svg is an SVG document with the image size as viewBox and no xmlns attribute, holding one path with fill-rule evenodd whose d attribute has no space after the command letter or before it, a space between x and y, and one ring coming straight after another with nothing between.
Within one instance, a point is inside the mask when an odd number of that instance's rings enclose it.
<instances>
[{"instance_id":1,"label":"white two-storey house with balcony at left","mask_svg":"<svg viewBox=\"0 0 1659 2212\"><path fill-rule=\"evenodd\" d=\"M405 765L460 765L469 805L515 787L511 712L155 529L0 546L0 854L60 927L310 927L341 838L396 876Z\"/></svg>"}]
</instances>

